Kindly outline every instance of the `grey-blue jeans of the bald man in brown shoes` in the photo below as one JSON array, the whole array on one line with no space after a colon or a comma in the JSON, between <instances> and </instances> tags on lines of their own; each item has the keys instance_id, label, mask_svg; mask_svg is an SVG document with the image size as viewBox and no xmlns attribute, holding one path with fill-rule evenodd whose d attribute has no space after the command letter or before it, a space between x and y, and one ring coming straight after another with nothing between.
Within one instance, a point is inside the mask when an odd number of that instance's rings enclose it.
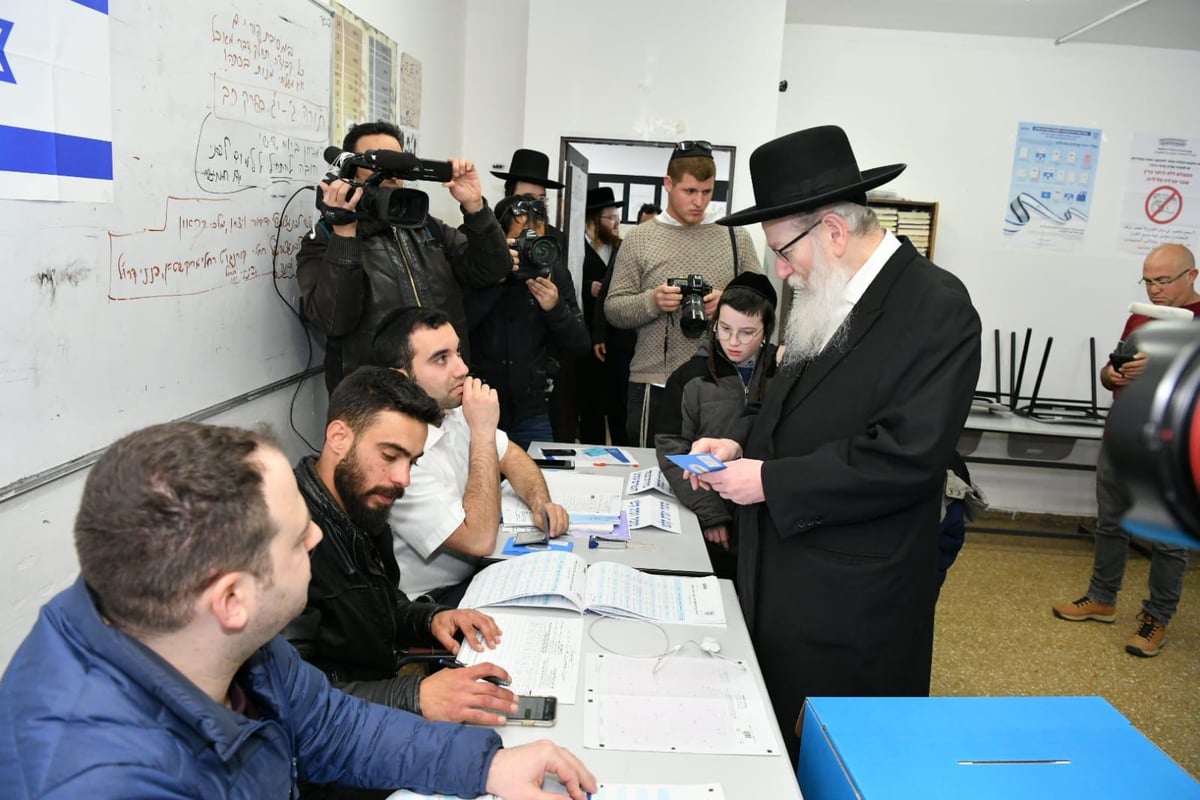
<instances>
[{"instance_id":1,"label":"grey-blue jeans of the bald man in brown shoes","mask_svg":"<svg viewBox=\"0 0 1200 800\"><path fill-rule=\"evenodd\" d=\"M1096 557L1087 596L1099 603L1114 604L1129 555L1129 534L1121 528L1121 517L1133 505L1133 499L1117 479L1108 441L1100 443L1100 456L1096 463ZM1182 547L1152 543L1150 597L1142 601L1142 612L1163 625L1171 621L1180 603L1187 566L1188 552Z\"/></svg>"}]
</instances>

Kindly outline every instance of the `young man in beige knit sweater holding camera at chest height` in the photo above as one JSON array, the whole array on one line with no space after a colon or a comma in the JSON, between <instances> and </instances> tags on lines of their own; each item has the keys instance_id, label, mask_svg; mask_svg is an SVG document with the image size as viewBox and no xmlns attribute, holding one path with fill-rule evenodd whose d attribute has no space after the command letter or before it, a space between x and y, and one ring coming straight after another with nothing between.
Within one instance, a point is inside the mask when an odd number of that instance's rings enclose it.
<instances>
[{"instance_id":1,"label":"young man in beige knit sweater holding camera at chest height","mask_svg":"<svg viewBox=\"0 0 1200 800\"><path fill-rule=\"evenodd\" d=\"M628 407L635 446L654 446L667 377L696 353L725 284L762 271L745 230L708 218L715 184L713 145L677 144L662 179L666 210L630 230L617 254L604 311L613 327L637 330Z\"/></svg>"}]
</instances>

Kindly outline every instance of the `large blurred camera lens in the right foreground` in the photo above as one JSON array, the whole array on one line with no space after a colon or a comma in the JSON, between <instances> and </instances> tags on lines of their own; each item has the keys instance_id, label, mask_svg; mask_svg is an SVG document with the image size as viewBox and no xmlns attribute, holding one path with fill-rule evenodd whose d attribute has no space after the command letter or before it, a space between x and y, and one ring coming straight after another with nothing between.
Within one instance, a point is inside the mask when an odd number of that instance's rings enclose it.
<instances>
[{"instance_id":1,"label":"large blurred camera lens in the right foreground","mask_svg":"<svg viewBox=\"0 0 1200 800\"><path fill-rule=\"evenodd\" d=\"M1134 333L1146 354L1104 429L1133 506L1122 524L1139 536L1200 548L1200 321L1148 323Z\"/></svg>"}]
</instances>

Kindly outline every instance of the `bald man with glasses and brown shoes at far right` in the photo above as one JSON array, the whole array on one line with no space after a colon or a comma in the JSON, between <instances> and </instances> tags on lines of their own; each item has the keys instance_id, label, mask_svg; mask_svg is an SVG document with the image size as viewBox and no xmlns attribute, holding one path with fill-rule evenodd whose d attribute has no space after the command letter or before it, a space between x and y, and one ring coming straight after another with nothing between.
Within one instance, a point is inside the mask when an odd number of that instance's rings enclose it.
<instances>
[{"instance_id":1,"label":"bald man with glasses and brown shoes at far right","mask_svg":"<svg viewBox=\"0 0 1200 800\"><path fill-rule=\"evenodd\" d=\"M1146 296L1154 306L1186 308L1193 315L1200 314L1200 294L1194 285L1195 257L1183 245L1156 247L1146 257L1141 276L1138 283L1146 288ZM1146 366L1145 354L1138 351L1129 337L1152 319L1146 314L1132 314L1121 333L1121 345L1100 369L1100 383L1112 392L1114 398ZM1106 435L1100 441L1100 455L1096 463L1096 553L1092 559L1092 579L1082 597L1052 608L1058 619L1069 622L1116 620L1117 593L1121 591L1126 558L1129 554L1129 533L1121 527L1121 518L1132 505L1129 489L1121 482L1116 470L1111 439ZM1150 597L1142 601L1138 627L1126 644L1126 652L1144 658L1157 656L1166 639L1166 626L1178 606L1183 591L1183 573L1188 565L1188 552L1182 547L1156 541L1151 548Z\"/></svg>"}]
</instances>

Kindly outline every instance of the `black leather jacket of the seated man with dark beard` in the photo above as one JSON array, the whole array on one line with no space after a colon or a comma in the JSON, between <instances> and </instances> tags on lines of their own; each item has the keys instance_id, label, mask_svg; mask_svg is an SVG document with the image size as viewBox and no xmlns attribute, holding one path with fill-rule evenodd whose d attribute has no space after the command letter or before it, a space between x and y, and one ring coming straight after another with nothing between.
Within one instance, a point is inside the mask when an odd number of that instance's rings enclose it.
<instances>
[{"instance_id":1,"label":"black leather jacket of the seated man with dark beard","mask_svg":"<svg viewBox=\"0 0 1200 800\"><path fill-rule=\"evenodd\" d=\"M412 602L400 590L391 530L367 531L346 516L317 475L296 464L296 483L325 537L312 549L308 604L284 630L305 661L334 686L372 703L420 714L420 676L396 675L410 645L433 643L430 624L445 607Z\"/></svg>"}]
</instances>

